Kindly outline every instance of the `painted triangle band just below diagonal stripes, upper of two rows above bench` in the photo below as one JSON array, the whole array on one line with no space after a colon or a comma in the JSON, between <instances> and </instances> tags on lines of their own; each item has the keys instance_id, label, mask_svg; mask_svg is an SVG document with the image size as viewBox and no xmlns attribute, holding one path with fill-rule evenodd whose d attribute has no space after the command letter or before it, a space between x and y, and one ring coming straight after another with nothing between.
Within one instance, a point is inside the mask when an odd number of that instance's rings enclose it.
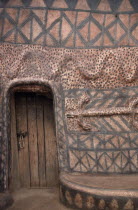
<instances>
[{"instance_id":1,"label":"painted triangle band just below diagonal stripes, upper of two rows above bench","mask_svg":"<svg viewBox=\"0 0 138 210\"><path fill-rule=\"evenodd\" d=\"M117 134L68 134L70 149L89 151L118 151L138 148L137 133Z\"/></svg>"}]
</instances>

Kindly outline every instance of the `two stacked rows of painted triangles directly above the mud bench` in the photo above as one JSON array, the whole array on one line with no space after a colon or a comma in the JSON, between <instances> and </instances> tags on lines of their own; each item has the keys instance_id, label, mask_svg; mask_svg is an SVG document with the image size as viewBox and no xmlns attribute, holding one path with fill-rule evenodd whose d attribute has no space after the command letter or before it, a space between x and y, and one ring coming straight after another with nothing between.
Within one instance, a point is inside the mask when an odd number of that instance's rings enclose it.
<instances>
[{"instance_id":1,"label":"two stacked rows of painted triangles directly above the mud bench","mask_svg":"<svg viewBox=\"0 0 138 210\"><path fill-rule=\"evenodd\" d=\"M69 135L68 139L72 141L69 145L71 171L138 172L138 134L89 134L76 138L75 135Z\"/></svg>"}]
</instances>

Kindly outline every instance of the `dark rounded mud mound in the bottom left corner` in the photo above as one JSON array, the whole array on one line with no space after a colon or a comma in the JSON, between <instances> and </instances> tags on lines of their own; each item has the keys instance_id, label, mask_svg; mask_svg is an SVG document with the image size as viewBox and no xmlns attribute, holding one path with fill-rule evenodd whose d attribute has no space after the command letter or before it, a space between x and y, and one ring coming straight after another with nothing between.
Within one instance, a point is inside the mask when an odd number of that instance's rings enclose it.
<instances>
[{"instance_id":1,"label":"dark rounded mud mound in the bottom left corner","mask_svg":"<svg viewBox=\"0 0 138 210\"><path fill-rule=\"evenodd\" d=\"M4 210L13 204L13 198L9 193L0 193L0 210Z\"/></svg>"}]
</instances>

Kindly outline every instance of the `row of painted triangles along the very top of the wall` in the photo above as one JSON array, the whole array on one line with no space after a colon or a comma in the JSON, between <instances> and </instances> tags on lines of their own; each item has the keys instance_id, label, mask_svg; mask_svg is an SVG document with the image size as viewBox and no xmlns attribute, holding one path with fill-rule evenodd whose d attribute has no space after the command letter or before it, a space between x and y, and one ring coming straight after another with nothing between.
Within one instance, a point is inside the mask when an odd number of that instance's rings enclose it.
<instances>
[{"instance_id":1,"label":"row of painted triangles along the very top of the wall","mask_svg":"<svg viewBox=\"0 0 138 210\"><path fill-rule=\"evenodd\" d=\"M81 4L80 4L81 1ZM127 10L138 10L137 0L18 0L18 3L12 0L0 0L0 6L20 6L20 7L46 7L46 8L66 8L71 10L109 10L118 11L122 10L123 6L126 4Z\"/></svg>"}]
</instances>

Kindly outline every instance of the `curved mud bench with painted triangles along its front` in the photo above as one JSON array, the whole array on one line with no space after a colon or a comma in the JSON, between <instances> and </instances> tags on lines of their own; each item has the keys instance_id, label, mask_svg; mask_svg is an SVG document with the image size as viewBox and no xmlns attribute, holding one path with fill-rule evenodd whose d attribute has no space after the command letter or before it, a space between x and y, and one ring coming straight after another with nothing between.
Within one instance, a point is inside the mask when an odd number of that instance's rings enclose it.
<instances>
[{"instance_id":1,"label":"curved mud bench with painted triangles along its front","mask_svg":"<svg viewBox=\"0 0 138 210\"><path fill-rule=\"evenodd\" d=\"M60 200L75 209L135 210L138 209L138 175L62 173Z\"/></svg>"}]
</instances>

